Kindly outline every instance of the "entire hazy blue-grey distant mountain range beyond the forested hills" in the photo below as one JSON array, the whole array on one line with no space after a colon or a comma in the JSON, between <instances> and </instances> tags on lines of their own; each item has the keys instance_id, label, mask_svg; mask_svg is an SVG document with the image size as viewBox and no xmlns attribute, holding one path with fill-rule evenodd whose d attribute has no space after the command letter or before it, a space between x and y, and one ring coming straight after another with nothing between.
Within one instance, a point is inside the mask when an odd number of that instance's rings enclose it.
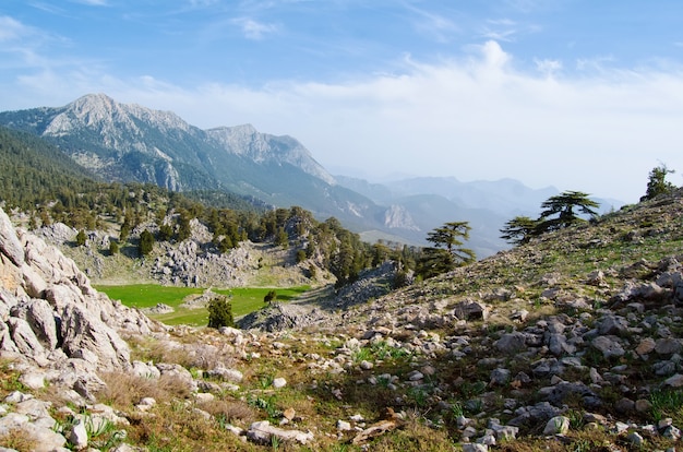
<instances>
[{"instance_id":1,"label":"entire hazy blue-grey distant mountain range beyond the forested hills","mask_svg":"<svg viewBox=\"0 0 683 452\"><path fill-rule=\"evenodd\" d=\"M459 182L412 178L386 185L332 176L299 141L251 124L202 130L171 111L85 95L62 107L0 112L0 124L56 144L107 181L155 183L172 191L236 193L264 203L299 205L338 218L370 240L426 245L450 221L472 227L479 257L507 248L499 229L516 215L536 215L558 191L512 179Z\"/></svg>"}]
</instances>

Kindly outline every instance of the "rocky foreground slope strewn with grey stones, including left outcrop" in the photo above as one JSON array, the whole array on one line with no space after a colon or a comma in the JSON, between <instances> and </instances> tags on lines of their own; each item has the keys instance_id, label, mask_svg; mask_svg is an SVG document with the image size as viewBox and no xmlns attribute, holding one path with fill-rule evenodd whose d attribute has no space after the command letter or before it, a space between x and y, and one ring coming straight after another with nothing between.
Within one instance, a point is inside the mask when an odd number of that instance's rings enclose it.
<instances>
[{"instance_id":1,"label":"rocky foreground slope strewn with grey stones, including left outcrop","mask_svg":"<svg viewBox=\"0 0 683 452\"><path fill-rule=\"evenodd\" d=\"M263 330L154 323L1 214L0 444L674 451L682 197L386 295L374 275L274 306L289 321Z\"/></svg>"}]
</instances>

